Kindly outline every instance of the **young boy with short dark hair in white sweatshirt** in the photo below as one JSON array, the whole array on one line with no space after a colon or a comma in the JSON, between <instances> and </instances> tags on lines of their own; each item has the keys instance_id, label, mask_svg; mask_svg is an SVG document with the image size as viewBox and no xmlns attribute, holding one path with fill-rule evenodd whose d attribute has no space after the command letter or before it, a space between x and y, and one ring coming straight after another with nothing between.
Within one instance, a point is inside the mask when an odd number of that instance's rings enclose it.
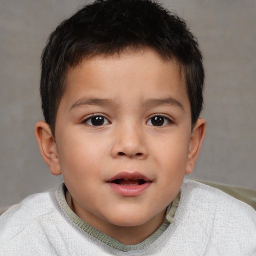
<instances>
[{"instance_id":1,"label":"young boy with short dark hair in white sweatshirt","mask_svg":"<svg viewBox=\"0 0 256 256\"><path fill-rule=\"evenodd\" d=\"M35 134L56 190L0 218L0 255L256 255L256 213L185 180L205 133L185 22L149 0L97 0L41 61Z\"/></svg>"}]
</instances>

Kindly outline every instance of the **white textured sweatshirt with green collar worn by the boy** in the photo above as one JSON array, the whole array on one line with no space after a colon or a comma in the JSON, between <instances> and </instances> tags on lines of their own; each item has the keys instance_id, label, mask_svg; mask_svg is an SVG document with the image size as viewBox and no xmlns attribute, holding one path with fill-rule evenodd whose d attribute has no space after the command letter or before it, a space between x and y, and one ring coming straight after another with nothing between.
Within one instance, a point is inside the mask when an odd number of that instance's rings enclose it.
<instances>
[{"instance_id":1,"label":"white textured sweatshirt with green collar worn by the boy","mask_svg":"<svg viewBox=\"0 0 256 256\"><path fill-rule=\"evenodd\" d=\"M256 255L256 211L196 181L183 182L179 202L172 203L163 224L135 245L121 244L81 220L64 191L61 185L30 195L0 216L1 256Z\"/></svg>"}]
</instances>

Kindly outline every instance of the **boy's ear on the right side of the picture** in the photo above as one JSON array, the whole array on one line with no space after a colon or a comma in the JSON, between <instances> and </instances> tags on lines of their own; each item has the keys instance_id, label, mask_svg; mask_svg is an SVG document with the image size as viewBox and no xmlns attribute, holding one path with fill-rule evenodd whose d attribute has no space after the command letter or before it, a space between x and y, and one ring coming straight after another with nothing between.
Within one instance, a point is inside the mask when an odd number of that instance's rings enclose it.
<instances>
[{"instance_id":1,"label":"boy's ear on the right side of the picture","mask_svg":"<svg viewBox=\"0 0 256 256\"><path fill-rule=\"evenodd\" d=\"M186 163L186 174L190 174L193 171L194 164L199 155L202 141L205 135L205 120L198 118L189 141L189 150Z\"/></svg>"}]
</instances>

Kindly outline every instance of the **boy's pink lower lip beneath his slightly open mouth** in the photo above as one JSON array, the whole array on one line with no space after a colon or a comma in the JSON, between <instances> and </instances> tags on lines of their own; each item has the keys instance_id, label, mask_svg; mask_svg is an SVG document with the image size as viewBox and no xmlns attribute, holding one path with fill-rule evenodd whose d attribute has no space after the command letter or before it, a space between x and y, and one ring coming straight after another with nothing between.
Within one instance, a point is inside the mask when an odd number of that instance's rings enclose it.
<instances>
[{"instance_id":1,"label":"boy's pink lower lip beneath his slightly open mouth","mask_svg":"<svg viewBox=\"0 0 256 256\"><path fill-rule=\"evenodd\" d=\"M137 196L148 188L151 182L145 182L141 185L118 185L115 183L107 182L112 190L123 196Z\"/></svg>"}]
</instances>

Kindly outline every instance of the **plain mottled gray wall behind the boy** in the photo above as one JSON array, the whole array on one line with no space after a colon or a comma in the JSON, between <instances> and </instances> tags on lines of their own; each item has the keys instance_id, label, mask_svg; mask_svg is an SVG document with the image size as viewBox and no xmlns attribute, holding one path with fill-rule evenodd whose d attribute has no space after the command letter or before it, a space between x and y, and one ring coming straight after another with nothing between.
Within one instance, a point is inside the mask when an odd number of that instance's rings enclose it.
<instances>
[{"instance_id":1,"label":"plain mottled gray wall behind the boy","mask_svg":"<svg viewBox=\"0 0 256 256\"><path fill-rule=\"evenodd\" d=\"M0 208L57 187L34 138L40 54L83 0L0 0ZM256 0L166 0L190 24L206 69L207 132L192 178L256 189Z\"/></svg>"}]
</instances>

